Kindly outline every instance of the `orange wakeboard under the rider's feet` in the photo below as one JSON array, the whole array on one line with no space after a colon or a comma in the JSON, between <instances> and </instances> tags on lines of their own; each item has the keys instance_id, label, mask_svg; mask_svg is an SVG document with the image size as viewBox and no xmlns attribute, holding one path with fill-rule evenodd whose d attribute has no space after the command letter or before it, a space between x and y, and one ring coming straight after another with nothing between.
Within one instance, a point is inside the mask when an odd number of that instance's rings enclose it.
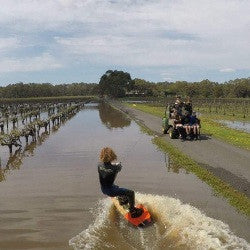
<instances>
[{"instance_id":1,"label":"orange wakeboard under the rider's feet","mask_svg":"<svg viewBox=\"0 0 250 250\"><path fill-rule=\"evenodd\" d=\"M141 216L132 218L130 212L128 212L125 206L120 205L117 198L113 197L111 199L115 207L117 208L117 210L120 212L120 214L122 214L124 218L132 225L136 227L144 227L151 223L152 221L151 215L149 211L142 204L136 205L137 208L141 208L143 210L143 213L141 214Z\"/></svg>"}]
</instances>

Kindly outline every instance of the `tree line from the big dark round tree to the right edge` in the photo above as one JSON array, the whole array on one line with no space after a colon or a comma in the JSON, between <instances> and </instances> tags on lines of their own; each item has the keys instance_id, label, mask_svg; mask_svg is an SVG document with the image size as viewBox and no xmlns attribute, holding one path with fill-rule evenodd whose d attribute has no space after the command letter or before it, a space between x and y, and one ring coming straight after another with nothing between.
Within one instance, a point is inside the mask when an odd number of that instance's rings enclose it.
<instances>
[{"instance_id":1,"label":"tree line from the big dark round tree to the right edge","mask_svg":"<svg viewBox=\"0 0 250 250\"><path fill-rule=\"evenodd\" d=\"M235 79L219 84L209 80L200 82L149 82L144 79L131 79L123 71L108 70L99 82L101 95L124 96L189 96L195 98L249 98L250 78Z\"/></svg>"}]
</instances>

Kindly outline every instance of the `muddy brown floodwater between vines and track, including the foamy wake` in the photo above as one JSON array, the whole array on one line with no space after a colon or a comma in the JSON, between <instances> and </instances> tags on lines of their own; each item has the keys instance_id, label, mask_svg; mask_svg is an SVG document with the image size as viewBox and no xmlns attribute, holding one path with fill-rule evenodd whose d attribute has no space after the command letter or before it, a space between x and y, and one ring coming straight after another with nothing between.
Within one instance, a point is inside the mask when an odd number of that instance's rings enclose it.
<instances>
[{"instance_id":1,"label":"muddy brown floodwater between vines and track, including the foamy wake","mask_svg":"<svg viewBox=\"0 0 250 250\"><path fill-rule=\"evenodd\" d=\"M137 191L150 227L129 226L100 192L96 164L107 145L123 164L117 184ZM0 150L0 249L249 249L248 218L105 104L87 105L11 158Z\"/></svg>"}]
</instances>

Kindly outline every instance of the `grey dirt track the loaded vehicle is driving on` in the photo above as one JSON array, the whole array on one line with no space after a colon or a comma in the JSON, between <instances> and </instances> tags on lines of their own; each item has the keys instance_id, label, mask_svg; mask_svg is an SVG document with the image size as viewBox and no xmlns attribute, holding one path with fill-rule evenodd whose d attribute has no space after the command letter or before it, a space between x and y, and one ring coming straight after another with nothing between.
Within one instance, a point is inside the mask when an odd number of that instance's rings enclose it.
<instances>
[{"instance_id":1,"label":"grey dirt track the loaded vehicle is driving on","mask_svg":"<svg viewBox=\"0 0 250 250\"><path fill-rule=\"evenodd\" d=\"M112 104L152 131L162 134L159 117L129 108L119 102L112 102ZM204 134L201 134L201 139L198 141L174 140L170 139L168 135L164 135L164 137L220 179L250 197L250 151Z\"/></svg>"}]
</instances>

